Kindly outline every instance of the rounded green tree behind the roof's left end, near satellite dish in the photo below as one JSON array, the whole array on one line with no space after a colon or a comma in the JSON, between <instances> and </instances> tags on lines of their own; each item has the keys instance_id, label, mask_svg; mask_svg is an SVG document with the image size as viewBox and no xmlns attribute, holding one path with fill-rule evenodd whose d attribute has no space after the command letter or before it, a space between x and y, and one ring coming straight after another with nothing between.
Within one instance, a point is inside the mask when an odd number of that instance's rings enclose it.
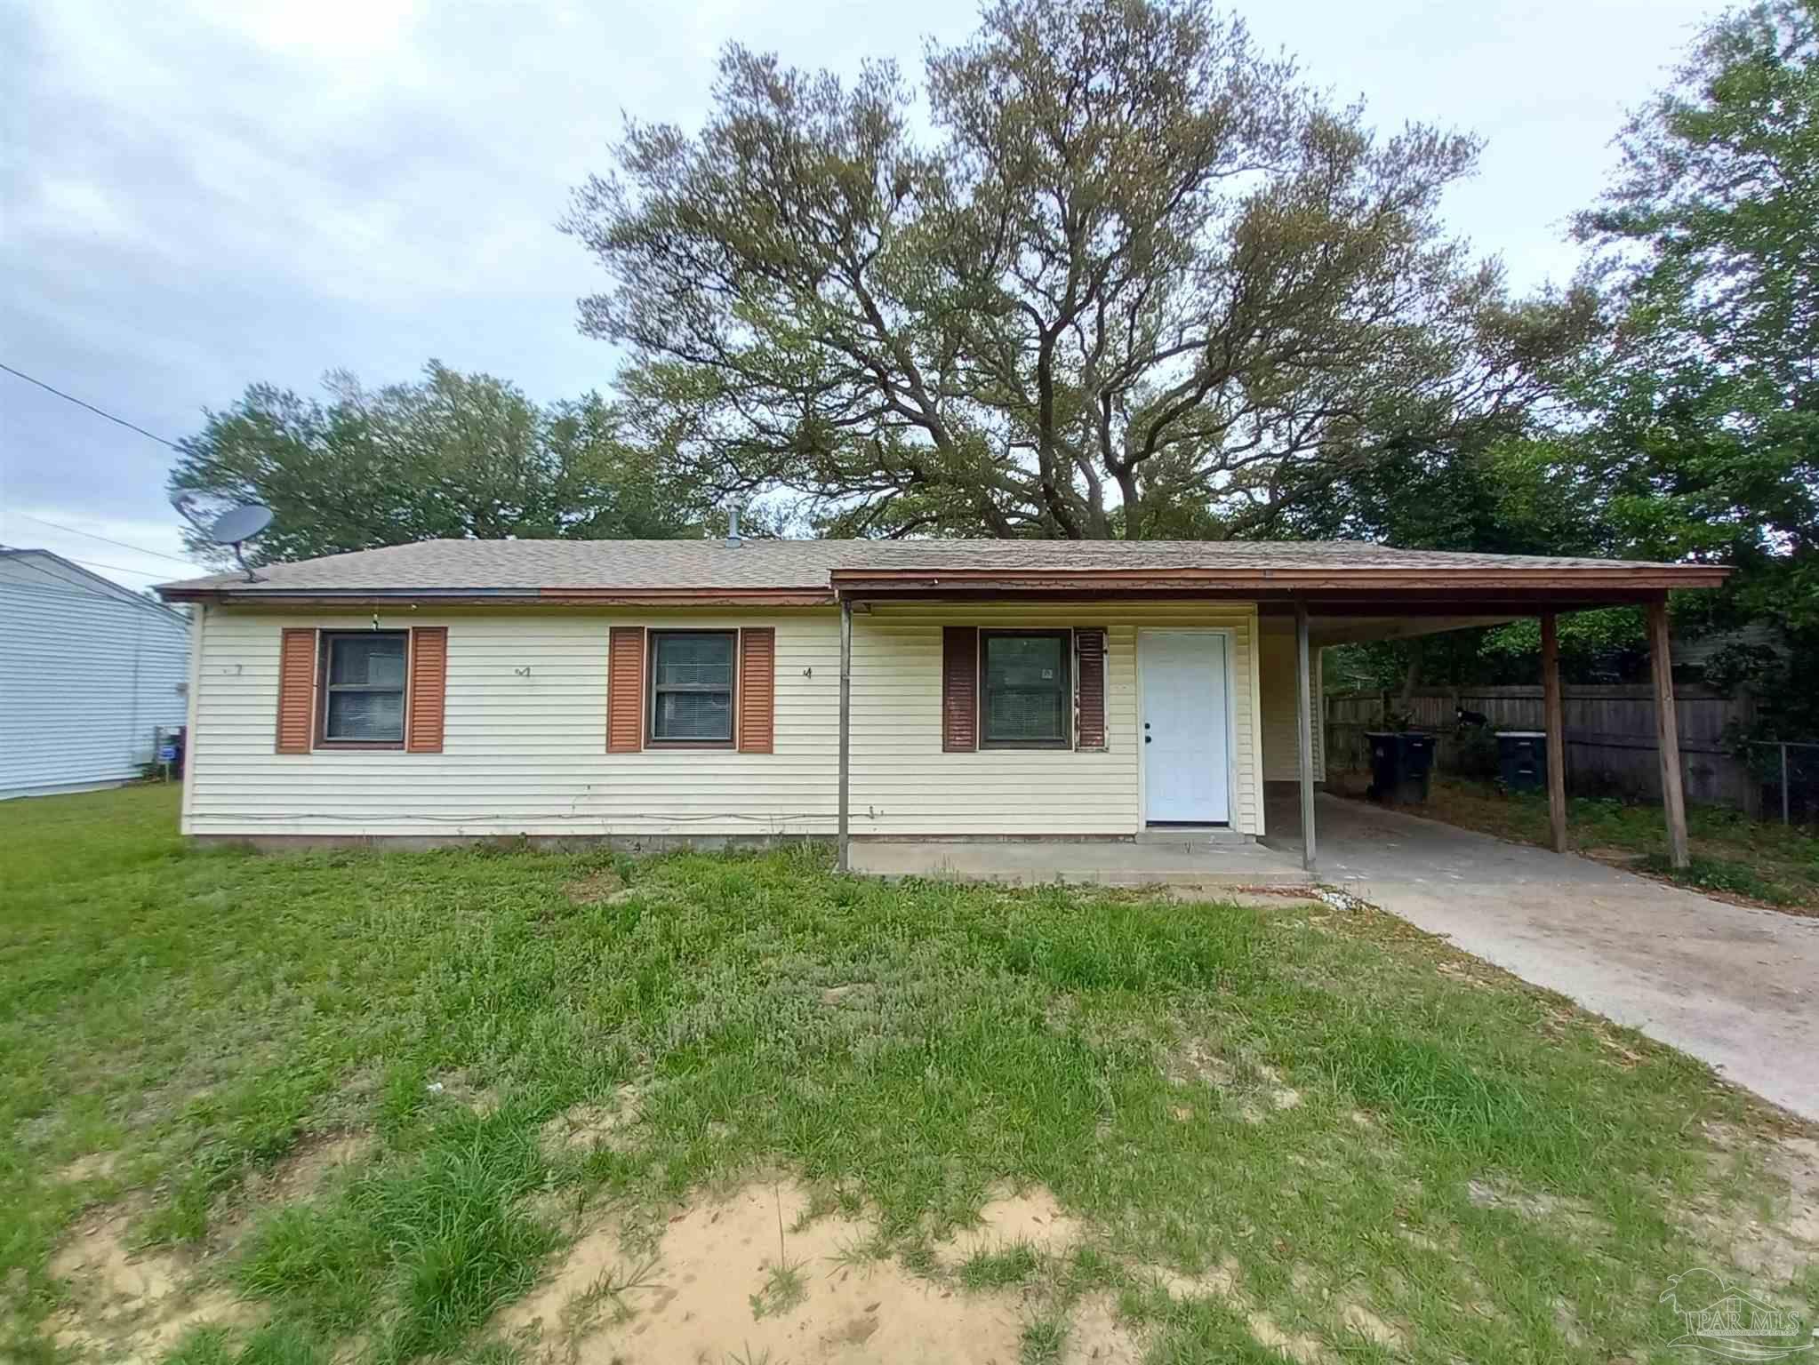
<instances>
[{"instance_id":1,"label":"rounded green tree behind the roof's left end, near satellite dish","mask_svg":"<svg viewBox=\"0 0 1819 1365\"><path fill-rule=\"evenodd\" d=\"M628 445L598 396L540 407L489 374L431 362L420 384L362 389L327 378L327 402L253 385L180 442L169 489L198 511L273 509L262 560L435 538L671 538L711 507ZM198 536L191 551L222 558Z\"/></svg>"}]
</instances>

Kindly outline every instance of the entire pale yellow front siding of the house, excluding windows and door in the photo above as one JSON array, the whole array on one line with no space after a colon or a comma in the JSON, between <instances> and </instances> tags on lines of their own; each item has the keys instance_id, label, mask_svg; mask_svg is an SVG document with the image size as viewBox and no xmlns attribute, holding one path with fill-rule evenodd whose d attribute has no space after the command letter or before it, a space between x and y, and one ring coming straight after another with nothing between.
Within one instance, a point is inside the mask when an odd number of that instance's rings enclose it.
<instances>
[{"instance_id":1,"label":"entire pale yellow front siding of the house, excluding windows and door","mask_svg":"<svg viewBox=\"0 0 1819 1365\"><path fill-rule=\"evenodd\" d=\"M1106 752L940 749L940 627L1108 627ZM1257 614L1211 607L880 607L855 614L851 829L868 834L1131 834L1139 827L1137 625L1233 633L1233 823L1262 832ZM286 625L371 614L209 609L200 629L184 831L191 834L829 834L839 614L398 613L447 625L440 754L276 754ZM777 629L775 752L606 752L608 627Z\"/></svg>"}]
</instances>

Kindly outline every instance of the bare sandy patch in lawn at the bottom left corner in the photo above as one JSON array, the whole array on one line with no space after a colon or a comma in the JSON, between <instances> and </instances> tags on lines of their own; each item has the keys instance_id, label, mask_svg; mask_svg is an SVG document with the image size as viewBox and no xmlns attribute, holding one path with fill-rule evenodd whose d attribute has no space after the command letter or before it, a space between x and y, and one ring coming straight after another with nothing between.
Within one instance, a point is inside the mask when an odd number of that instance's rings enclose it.
<instances>
[{"instance_id":1,"label":"bare sandy patch in lawn at the bottom left corner","mask_svg":"<svg viewBox=\"0 0 1819 1365\"><path fill-rule=\"evenodd\" d=\"M191 1285L191 1267L160 1250L133 1252L127 1216L100 1214L51 1258L71 1303L45 1334L64 1350L124 1365L151 1365L191 1327L240 1327L256 1310L222 1289Z\"/></svg>"}]
</instances>

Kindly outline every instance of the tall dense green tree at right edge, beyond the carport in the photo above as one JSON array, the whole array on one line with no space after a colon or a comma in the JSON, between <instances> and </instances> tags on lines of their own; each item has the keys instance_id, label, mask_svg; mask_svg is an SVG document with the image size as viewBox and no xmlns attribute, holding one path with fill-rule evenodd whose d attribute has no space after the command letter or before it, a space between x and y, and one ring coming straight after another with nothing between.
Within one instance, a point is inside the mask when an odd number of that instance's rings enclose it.
<instances>
[{"instance_id":1,"label":"tall dense green tree at right edge, beyond the carport","mask_svg":"<svg viewBox=\"0 0 1819 1365\"><path fill-rule=\"evenodd\" d=\"M1772 618L1819 665L1819 7L1710 25L1623 136L1577 231L1601 253L1613 340L1581 385L1593 425L1561 465L1633 553L1717 558L1704 625ZM1792 678L1786 680L1792 683ZM1812 687L1757 676L1775 723L1819 732Z\"/></svg>"}]
</instances>

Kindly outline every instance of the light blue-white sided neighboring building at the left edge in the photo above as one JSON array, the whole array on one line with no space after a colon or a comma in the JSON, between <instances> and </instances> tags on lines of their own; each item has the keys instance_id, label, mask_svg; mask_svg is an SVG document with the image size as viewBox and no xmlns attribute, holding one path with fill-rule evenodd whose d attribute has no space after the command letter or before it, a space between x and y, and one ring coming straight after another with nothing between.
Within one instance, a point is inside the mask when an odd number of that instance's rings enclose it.
<instances>
[{"instance_id":1,"label":"light blue-white sided neighboring building at the left edge","mask_svg":"<svg viewBox=\"0 0 1819 1365\"><path fill-rule=\"evenodd\" d=\"M189 712L189 622L42 549L0 549L0 800L107 787Z\"/></svg>"}]
</instances>

